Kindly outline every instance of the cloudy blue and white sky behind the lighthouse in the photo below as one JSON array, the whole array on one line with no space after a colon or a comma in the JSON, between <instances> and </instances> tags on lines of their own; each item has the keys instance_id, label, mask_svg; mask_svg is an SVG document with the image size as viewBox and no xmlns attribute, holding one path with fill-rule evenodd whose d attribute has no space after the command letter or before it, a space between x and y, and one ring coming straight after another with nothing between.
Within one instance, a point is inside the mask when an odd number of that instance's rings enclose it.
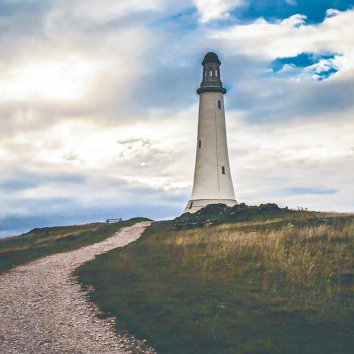
<instances>
[{"instance_id":1,"label":"cloudy blue and white sky behind the lighthouse","mask_svg":"<svg viewBox=\"0 0 354 354\"><path fill-rule=\"evenodd\" d=\"M0 236L179 216L203 56L238 202L354 211L354 0L0 0Z\"/></svg>"}]
</instances>

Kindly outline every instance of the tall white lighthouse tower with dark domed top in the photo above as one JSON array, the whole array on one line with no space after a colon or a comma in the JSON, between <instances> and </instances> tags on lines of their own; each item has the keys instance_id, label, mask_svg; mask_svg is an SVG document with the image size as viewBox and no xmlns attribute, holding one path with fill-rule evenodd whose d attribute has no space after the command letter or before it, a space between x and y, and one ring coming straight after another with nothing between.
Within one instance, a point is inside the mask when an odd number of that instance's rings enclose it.
<instances>
[{"instance_id":1,"label":"tall white lighthouse tower with dark domed top","mask_svg":"<svg viewBox=\"0 0 354 354\"><path fill-rule=\"evenodd\" d=\"M184 213L208 204L237 204L232 185L226 141L224 94L218 55L204 56L203 80L197 90L199 118L193 191Z\"/></svg>"}]
</instances>

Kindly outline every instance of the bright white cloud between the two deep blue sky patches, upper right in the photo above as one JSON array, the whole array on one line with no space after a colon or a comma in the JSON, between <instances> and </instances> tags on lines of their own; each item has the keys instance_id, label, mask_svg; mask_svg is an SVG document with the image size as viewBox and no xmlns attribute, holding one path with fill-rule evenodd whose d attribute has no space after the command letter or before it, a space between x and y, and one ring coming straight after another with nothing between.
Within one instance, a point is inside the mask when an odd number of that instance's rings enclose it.
<instances>
[{"instance_id":1,"label":"bright white cloud between the two deep blue sky patches, upper right","mask_svg":"<svg viewBox=\"0 0 354 354\"><path fill-rule=\"evenodd\" d=\"M294 15L274 23L258 19L249 25L214 31L209 36L221 40L225 48L235 53L265 57L268 60L297 56L303 52L334 52L352 58L354 10L331 11L327 14L335 16L326 17L316 25L307 25L304 15ZM354 60L351 62L354 63Z\"/></svg>"}]
</instances>

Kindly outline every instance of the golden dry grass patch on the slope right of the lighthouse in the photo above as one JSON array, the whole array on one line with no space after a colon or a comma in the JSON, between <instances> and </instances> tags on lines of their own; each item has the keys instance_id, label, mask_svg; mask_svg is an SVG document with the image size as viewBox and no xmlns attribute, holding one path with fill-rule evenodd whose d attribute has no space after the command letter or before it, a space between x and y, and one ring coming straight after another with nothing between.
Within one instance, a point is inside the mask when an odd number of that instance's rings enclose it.
<instances>
[{"instance_id":1,"label":"golden dry grass patch on the slope right of the lighthouse","mask_svg":"<svg viewBox=\"0 0 354 354\"><path fill-rule=\"evenodd\" d=\"M271 274L284 272L286 281L303 286L326 280L326 294L333 298L342 286L340 276L354 274L354 223L338 226L303 226L293 224L271 229L271 223L240 223L210 229L182 231L166 239L166 246L174 244L183 253L183 265L198 265L208 276L213 267L228 259L228 276L242 274L251 268L264 270L265 281ZM265 225L262 231L245 231L242 226ZM205 278L204 278L205 279ZM332 281L333 280L333 281ZM334 281L336 280L336 281ZM270 285L276 291L276 284ZM345 285L346 288L346 285ZM354 288L353 288L354 294Z\"/></svg>"}]
</instances>

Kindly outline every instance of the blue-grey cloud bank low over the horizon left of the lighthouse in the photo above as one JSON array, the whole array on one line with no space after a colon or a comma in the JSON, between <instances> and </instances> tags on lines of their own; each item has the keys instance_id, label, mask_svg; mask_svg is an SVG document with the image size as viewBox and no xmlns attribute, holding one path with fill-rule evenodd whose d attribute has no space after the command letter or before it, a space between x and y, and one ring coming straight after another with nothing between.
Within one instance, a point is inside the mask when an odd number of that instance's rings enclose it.
<instances>
[{"instance_id":1,"label":"blue-grey cloud bank low over the horizon left of the lighthouse","mask_svg":"<svg viewBox=\"0 0 354 354\"><path fill-rule=\"evenodd\" d=\"M90 205L72 198L31 198L12 201L30 212L27 215L9 214L0 217L0 232L27 230L34 227L103 222L107 218L129 219L136 216L155 220L173 218L181 213L186 193L164 193L153 188L134 187L126 181L102 178L95 188L110 190L111 196ZM3 232L6 236L6 232Z\"/></svg>"}]
</instances>

